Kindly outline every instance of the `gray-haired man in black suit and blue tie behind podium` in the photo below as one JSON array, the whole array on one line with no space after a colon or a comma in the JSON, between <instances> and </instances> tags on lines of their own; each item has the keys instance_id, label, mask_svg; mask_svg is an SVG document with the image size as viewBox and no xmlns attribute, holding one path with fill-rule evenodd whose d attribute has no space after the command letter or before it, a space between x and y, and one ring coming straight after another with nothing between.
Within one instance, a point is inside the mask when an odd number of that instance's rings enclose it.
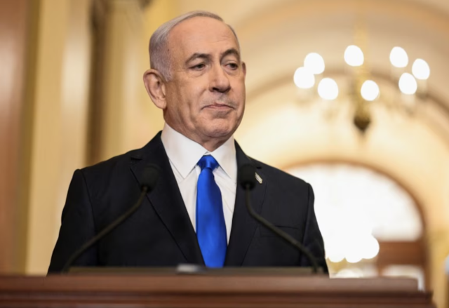
<instances>
[{"instance_id":1,"label":"gray-haired man in black suit and blue tie behind podium","mask_svg":"<svg viewBox=\"0 0 449 308\"><path fill-rule=\"evenodd\" d=\"M256 168L255 211L300 241L327 272L311 186L250 159L232 137L246 75L234 30L212 13L187 13L159 27L149 50L145 87L166 126L142 149L75 171L48 271L59 272L128 210L149 163L162 172L138 212L74 265L310 266L248 214L237 170L249 163Z\"/></svg>"}]
</instances>

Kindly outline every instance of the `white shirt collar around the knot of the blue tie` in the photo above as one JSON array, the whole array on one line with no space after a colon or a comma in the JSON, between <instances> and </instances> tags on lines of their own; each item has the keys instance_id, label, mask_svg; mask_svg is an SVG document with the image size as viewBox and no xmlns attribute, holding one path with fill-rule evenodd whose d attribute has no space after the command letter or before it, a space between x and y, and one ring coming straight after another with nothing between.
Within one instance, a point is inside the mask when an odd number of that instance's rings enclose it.
<instances>
[{"instance_id":1,"label":"white shirt collar around the knot of the blue tie","mask_svg":"<svg viewBox=\"0 0 449 308\"><path fill-rule=\"evenodd\" d=\"M173 166L175 166L182 178L186 178L187 175L189 175L203 155L210 154L217 160L226 175L231 178L234 183L237 182L237 161L234 137L231 136L231 138L226 140L226 142L218 147L218 149L215 149L215 151L208 152L207 149L193 140L190 140L185 135L178 133L165 123L162 130L161 140L163 147L166 149L168 159L173 163Z\"/></svg>"}]
</instances>

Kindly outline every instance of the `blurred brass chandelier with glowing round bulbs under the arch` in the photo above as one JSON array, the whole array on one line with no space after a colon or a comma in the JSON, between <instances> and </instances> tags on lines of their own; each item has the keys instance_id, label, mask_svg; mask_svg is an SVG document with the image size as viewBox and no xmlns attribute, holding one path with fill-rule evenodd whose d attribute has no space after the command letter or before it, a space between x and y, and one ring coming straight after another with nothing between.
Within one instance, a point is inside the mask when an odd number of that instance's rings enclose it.
<instances>
[{"instance_id":1,"label":"blurred brass chandelier with glowing round bulbs under the arch","mask_svg":"<svg viewBox=\"0 0 449 308\"><path fill-rule=\"evenodd\" d=\"M362 134L366 132L372 121L370 110L373 104L399 105L408 114L413 114L418 101L427 98L427 79L430 68L425 60L417 58L410 65L408 54L398 46L391 49L389 61L391 74L387 76L389 82L396 84L396 91L401 93L400 99L389 101L387 96L382 97L378 83L373 79L363 50L366 48L366 31L356 28L355 41L357 45L347 46L343 53L344 74L343 81L346 86L326 76L326 65L319 53L309 53L304 58L302 67L296 69L293 81L300 88L300 100L322 100L332 102L349 99L354 126ZM344 92L342 93L342 89ZM326 104L328 108L331 104Z\"/></svg>"}]
</instances>

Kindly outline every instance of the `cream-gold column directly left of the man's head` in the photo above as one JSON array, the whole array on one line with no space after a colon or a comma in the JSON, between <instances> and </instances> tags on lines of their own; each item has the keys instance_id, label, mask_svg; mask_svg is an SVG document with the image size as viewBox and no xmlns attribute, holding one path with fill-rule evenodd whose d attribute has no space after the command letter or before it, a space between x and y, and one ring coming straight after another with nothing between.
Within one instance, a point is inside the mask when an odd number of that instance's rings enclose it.
<instances>
[{"instance_id":1,"label":"cream-gold column directly left of the man's head","mask_svg":"<svg viewBox=\"0 0 449 308\"><path fill-rule=\"evenodd\" d=\"M145 65L139 50L143 27L140 1L109 1L106 18L101 160L142 147L151 138L147 111L140 101L140 93L145 91Z\"/></svg>"}]
</instances>

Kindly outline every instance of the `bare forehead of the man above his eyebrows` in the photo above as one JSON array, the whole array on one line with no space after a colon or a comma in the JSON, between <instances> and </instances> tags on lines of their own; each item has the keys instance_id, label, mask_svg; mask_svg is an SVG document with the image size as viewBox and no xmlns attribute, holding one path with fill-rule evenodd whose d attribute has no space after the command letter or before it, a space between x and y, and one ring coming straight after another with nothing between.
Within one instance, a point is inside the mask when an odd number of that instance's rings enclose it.
<instances>
[{"instance_id":1,"label":"bare forehead of the man above his eyebrows","mask_svg":"<svg viewBox=\"0 0 449 308\"><path fill-rule=\"evenodd\" d=\"M229 26L208 17L190 18L173 27L168 35L168 46L170 53L178 56L229 48L239 50L236 36Z\"/></svg>"}]
</instances>

